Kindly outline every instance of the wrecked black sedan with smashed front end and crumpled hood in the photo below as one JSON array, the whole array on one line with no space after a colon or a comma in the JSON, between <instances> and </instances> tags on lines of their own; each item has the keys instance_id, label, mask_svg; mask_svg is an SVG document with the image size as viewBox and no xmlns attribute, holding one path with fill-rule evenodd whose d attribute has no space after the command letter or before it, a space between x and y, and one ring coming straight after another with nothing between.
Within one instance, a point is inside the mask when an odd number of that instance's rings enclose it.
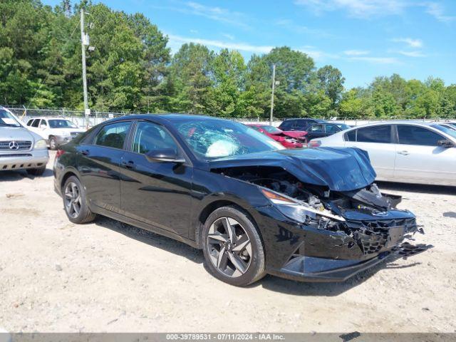
<instances>
[{"instance_id":1,"label":"wrecked black sedan with smashed front end and crumpled hood","mask_svg":"<svg viewBox=\"0 0 456 342\"><path fill-rule=\"evenodd\" d=\"M53 171L71 222L100 214L180 240L237 286L264 274L343 281L417 230L373 183L366 152L285 150L206 116L109 120L63 145Z\"/></svg>"}]
</instances>

